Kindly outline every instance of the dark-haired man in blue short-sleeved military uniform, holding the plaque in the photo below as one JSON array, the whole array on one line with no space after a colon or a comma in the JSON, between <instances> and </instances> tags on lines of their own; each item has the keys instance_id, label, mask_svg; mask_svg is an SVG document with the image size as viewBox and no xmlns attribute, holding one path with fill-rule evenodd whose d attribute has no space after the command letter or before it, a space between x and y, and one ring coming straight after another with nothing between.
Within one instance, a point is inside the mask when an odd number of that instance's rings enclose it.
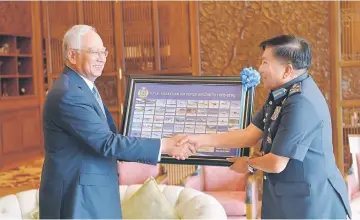
<instances>
[{"instance_id":1,"label":"dark-haired man in blue short-sleeved military uniform, holding the plaque","mask_svg":"<svg viewBox=\"0 0 360 220\"><path fill-rule=\"evenodd\" d=\"M350 217L345 181L333 154L329 109L308 74L309 44L282 35L260 46L259 72L271 92L252 123L243 130L187 136L179 144L231 148L262 140L262 156L229 161L237 172L264 172L263 219Z\"/></svg>"}]
</instances>

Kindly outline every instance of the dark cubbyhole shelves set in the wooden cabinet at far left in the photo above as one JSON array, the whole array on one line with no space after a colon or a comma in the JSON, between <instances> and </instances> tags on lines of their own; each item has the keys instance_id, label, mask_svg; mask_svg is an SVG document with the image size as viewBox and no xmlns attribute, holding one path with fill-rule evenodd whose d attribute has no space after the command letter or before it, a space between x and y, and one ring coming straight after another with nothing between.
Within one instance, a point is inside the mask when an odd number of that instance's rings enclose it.
<instances>
[{"instance_id":1,"label":"dark cubbyhole shelves set in the wooden cabinet at far left","mask_svg":"<svg viewBox=\"0 0 360 220\"><path fill-rule=\"evenodd\" d=\"M34 95L31 40L0 35L0 99Z\"/></svg>"}]
</instances>

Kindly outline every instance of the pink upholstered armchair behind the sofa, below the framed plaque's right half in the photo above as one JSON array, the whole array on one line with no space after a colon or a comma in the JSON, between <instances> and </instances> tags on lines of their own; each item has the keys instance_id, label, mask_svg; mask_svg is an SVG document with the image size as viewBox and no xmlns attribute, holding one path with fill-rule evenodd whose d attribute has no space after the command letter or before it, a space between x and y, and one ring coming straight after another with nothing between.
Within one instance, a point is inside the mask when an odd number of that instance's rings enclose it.
<instances>
[{"instance_id":1,"label":"pink upholstered armchair behind the sofa, below the framed plaque's right half","mask_svg":"<svg viewBox=\"0 0 360 220\"><path fill-rule=\"evenodd\" d=\"M257 204L257 189L254 184L248 184L248 174L240 174L229 167L202 166L197 174L188 176L183 186L190 187L211 195L224 207L228 217L245 218L247 203L252 198L255 209ZM248 192L247 192L248 191ZM255 211L256 212L256 211ZM253 218L256 214L251 213Z\"/></svg>"}]
</instances>

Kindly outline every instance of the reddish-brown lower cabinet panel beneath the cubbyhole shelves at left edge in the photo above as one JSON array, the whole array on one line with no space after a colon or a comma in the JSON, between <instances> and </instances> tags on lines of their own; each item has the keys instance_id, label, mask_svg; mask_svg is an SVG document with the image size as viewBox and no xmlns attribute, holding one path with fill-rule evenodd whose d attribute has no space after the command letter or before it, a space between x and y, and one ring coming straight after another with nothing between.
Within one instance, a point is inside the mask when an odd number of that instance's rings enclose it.
<instances>
[{"instance_id":1,"label":"reddish-brown lower cabinet panel beneath the cubbyhole shelves at left edge","mask_svg":"<svg viewBox=\"0 0 360 220\"><path fill-rule=\"evenodd\" d=\"M21 151L21 122L18 117L18 112L1 112L0 113L1 126L1 141L2 154L5 156L9 153ZM36 136L38 137L38 136Z\"/></svg>"}]
</instances>

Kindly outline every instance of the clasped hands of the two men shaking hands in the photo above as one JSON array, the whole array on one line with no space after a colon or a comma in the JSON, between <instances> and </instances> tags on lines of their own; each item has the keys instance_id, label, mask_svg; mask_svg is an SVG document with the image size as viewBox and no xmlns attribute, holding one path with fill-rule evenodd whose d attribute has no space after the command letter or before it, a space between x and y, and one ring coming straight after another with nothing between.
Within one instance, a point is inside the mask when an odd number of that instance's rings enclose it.
<instances>
[{"instance_id":1,"label":"clasped hands of the two men shaking hands","mask_svg":"<svg viewBox=\"0 0 360 220\"><path fill-rule=\"evenodd\" d=\"M200 144L194 142L197 135L175 135L171 138L161 139L161 153L168 154L178 160L185 160L196 154Z\"/></svg>"}]
</instances>

